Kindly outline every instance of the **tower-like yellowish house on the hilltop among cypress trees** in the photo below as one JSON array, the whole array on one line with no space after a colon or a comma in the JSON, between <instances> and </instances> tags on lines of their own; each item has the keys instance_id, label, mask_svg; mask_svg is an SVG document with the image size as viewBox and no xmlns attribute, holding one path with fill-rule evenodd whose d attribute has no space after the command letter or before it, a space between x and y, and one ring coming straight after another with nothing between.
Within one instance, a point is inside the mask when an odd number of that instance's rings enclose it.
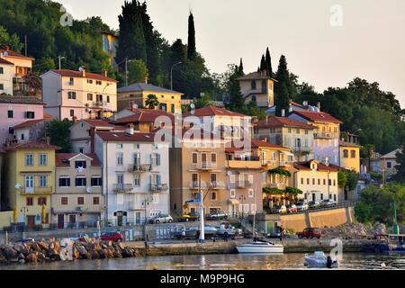
<instances>
[{"instance_id":1,"label":"tower-like yellowish house on the hilltop among cypress trees","mask_svg":"<svg viewBox=\"0 0 405 288\"><path fill-rule=\"evenodd\" d=\"M238 77L240 92L245 103L255 101L259 107L275 105L275 79L266 75L266 71L254 72Z\"/></svg>"}]
</instances>

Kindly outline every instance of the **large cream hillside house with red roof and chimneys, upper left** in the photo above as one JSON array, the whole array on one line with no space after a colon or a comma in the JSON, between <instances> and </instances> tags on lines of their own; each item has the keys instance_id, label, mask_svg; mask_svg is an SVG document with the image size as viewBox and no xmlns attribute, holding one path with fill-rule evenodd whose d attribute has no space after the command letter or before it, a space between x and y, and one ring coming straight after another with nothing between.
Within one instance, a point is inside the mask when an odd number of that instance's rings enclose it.
<instances>
[{"instance_id":1,"label":"large cream hillside house with red roof and chimneys, upper left","mask_svg":"<svg viewBox=\"0 0 405 288\"><path fill-rule=\"evenodd\" d=\"M42 74L42 100L58 120L102 119L117 111L117 81L81 71L49 70Z\"/></svg>"}]
</instances>

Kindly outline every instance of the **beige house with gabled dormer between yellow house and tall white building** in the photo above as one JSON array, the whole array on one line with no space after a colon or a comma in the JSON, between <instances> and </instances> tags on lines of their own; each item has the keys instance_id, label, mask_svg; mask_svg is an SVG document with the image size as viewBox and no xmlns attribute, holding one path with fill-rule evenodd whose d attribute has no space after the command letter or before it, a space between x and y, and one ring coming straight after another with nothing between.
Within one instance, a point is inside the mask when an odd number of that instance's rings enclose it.
<instances>
[{"instance_id":1,"label":"beige house with gabled dormer between yellow house and tall white building","mask_svg":"<svg viewBox=\"0 0 405 288\"><path fill-rule=\"evenodd\" d=\"M102 167L95 155L56 155L52 223L58 229L97 227L104 207Z\"/></svg>"}]
</instances>

